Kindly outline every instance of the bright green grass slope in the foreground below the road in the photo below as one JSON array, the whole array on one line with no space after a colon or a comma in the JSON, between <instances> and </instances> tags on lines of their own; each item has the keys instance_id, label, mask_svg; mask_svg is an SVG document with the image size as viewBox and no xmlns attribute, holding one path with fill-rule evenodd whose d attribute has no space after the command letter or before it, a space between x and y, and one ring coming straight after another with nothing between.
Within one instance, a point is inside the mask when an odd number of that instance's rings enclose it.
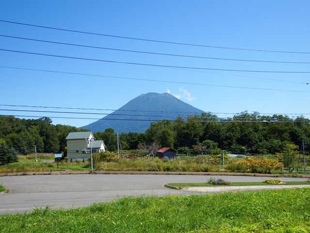
<instances>
[{"instance_id":1,"label":"bright green grass slope in the foreground below the road","mask_svg":"<svg viewBox=\"0 0 310 233\"><path fill-rule=\"evenodd\" d=\"M126 197L0 216L3 233L309 233L310 188Z\"/></svg>"}]
</instances>

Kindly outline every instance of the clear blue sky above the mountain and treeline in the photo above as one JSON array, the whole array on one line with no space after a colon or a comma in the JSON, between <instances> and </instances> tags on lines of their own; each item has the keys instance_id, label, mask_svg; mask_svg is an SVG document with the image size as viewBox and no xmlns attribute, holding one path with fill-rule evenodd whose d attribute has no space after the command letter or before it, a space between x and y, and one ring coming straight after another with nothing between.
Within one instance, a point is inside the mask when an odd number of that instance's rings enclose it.
<instances>
[{"instance_id":1,"label":"clear blue sky above the mountain and treeline","mask_svg":"<svg viewBox=\"0 0 310 233\"><path fill-rule=\"evenodd\" d=\"M294 113L289 116L303 114L309 117L310 84L306 83L310 83L310 73L300 73L310 72L309 9L308 0L1 1L0 20L113 36L0 21L0 114L20 118L49 116L53 124L79 127L95 119L70 117L102 118L111 111L30 108L20 105L116 110L140 94L168 92L196 108L220 117L233 116L246 110L250 113L257 111L262 115ZM29 112L33 110L88 114Z\"/></svg>"}]
</instances>

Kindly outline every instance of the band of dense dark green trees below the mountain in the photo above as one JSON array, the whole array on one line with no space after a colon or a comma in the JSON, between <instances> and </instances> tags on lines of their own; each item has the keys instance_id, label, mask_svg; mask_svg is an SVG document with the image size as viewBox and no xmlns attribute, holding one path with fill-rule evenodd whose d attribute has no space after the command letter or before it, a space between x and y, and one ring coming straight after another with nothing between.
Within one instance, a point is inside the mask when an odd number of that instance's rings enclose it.
<instances>
[{"instance_id":1,"label":"band of dense dark green trees below the mountain","mask_svg":"<svg viewBox=\"0 0 310 233\"><path fill-rule=\"evenodd\" d=\"M53 125L49 117L20 119L0 116L0 144L14 148L18 154L37 152L61 153L66 150L65 138L70 132L87 131L69 125ZM96 132L109 151L117 150L117 132L108 128ZM201 116L179 116L171 121L152 122L145 133L119 135L123 150L137 150L150 145L171 147L187 155L208 154L225 150L234 154L275 154L287 145L301 150L302 142L309 154L310 120L303 116L263 116L247 111L220 119L211 113Z\"/></svg>"}]
</instances>

